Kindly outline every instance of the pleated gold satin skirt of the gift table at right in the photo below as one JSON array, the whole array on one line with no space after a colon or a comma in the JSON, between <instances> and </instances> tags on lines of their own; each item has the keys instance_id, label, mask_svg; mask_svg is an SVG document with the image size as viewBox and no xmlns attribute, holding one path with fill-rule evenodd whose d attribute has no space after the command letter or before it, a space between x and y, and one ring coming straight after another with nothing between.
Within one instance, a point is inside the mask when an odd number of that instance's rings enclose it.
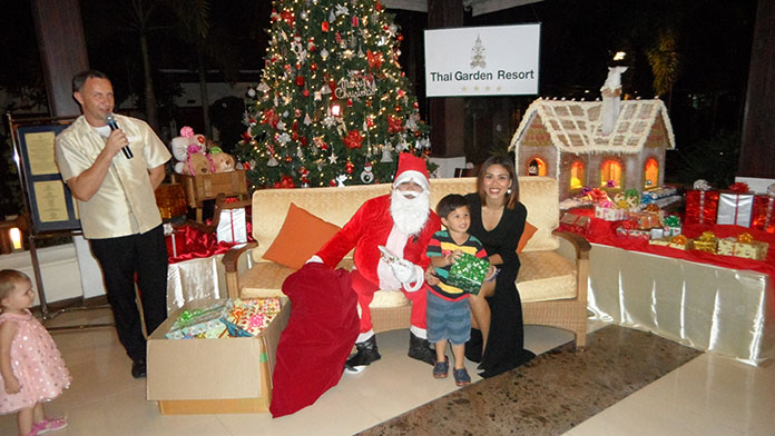
<instances>
[{"instance_id":1,"label":"pleated gold satin skirt of the gift table at right","mask_svg":"<svg viewBox=\"0 0 775 436\"><path fill-rule=\"evenodd\" d=\"M592 244L595 317L759 365L775 357L775 289L767 274Z\"/></svg>"}]
</instances>

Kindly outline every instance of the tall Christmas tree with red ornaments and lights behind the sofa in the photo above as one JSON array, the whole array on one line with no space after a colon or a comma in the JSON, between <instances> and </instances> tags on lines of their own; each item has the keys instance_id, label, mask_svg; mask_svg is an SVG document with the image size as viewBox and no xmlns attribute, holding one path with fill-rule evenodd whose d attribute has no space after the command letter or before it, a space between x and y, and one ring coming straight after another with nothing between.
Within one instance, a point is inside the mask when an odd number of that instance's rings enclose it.
<instances>
[{"instance_id":1,"label":"tall Christmas tree with red ornaments and lights behind the sofa","mask_svg":"<svg viewBox=\"0 0 775 436\"><path fill-rule=\"evenodd\" d=\"M430 152L376 0L275 0L262 81L237 146L257 188L390 181L400 152Z\"/></svg>"}]
</instances>

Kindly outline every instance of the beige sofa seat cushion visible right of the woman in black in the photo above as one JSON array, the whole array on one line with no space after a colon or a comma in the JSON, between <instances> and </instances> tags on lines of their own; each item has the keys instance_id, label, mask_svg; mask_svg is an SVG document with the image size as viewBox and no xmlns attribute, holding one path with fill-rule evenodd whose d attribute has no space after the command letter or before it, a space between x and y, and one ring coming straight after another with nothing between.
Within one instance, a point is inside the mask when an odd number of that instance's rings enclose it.
<instances>
[{"instance_id":1,"label":"beige sofa seat cushion visible right of the woman in black","mask_svg":"<svg viewBox=\"0 0 775 436\"><path fill-rule=\"evenodd\" d=\"M519 255L517 288L522 303L576 298L576 266L555 251Z\"/></svg>"}]
</instances>

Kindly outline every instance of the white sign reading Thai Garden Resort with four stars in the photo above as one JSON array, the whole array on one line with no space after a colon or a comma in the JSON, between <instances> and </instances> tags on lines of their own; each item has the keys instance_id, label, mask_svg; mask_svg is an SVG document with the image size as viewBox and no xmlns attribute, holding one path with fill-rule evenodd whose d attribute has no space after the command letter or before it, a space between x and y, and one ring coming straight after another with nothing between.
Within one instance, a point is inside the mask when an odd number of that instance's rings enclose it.
<instances>
[{"instance_id":1,"label":"white sign reading Thai Garden Resort with four stars","mask_svg":"<svg viewBox=\"0 0 775 436\"><path fill-rule=\"evenodd\" d=\"M541 24L425 30L428 97L538 93Z\"/></svg>"}]
</instances>

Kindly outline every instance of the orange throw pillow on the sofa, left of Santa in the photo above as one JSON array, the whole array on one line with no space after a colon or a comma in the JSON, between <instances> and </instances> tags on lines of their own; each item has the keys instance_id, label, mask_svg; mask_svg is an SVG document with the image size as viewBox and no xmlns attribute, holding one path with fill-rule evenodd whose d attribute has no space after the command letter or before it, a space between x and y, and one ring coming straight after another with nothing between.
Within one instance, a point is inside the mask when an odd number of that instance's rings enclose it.
<instances>
[{"instance_id":1,"label":"orange throw pillow on the sofa, left of Santa","mask_svg":"<svg viewBox=\"0 0 775 436\"><path fill-rule=\"evenodd\" d=\"M298 269L323 247L340 227L291 204L279 234L264 254L264 259Z\"/></svg>"}]
</instances>

